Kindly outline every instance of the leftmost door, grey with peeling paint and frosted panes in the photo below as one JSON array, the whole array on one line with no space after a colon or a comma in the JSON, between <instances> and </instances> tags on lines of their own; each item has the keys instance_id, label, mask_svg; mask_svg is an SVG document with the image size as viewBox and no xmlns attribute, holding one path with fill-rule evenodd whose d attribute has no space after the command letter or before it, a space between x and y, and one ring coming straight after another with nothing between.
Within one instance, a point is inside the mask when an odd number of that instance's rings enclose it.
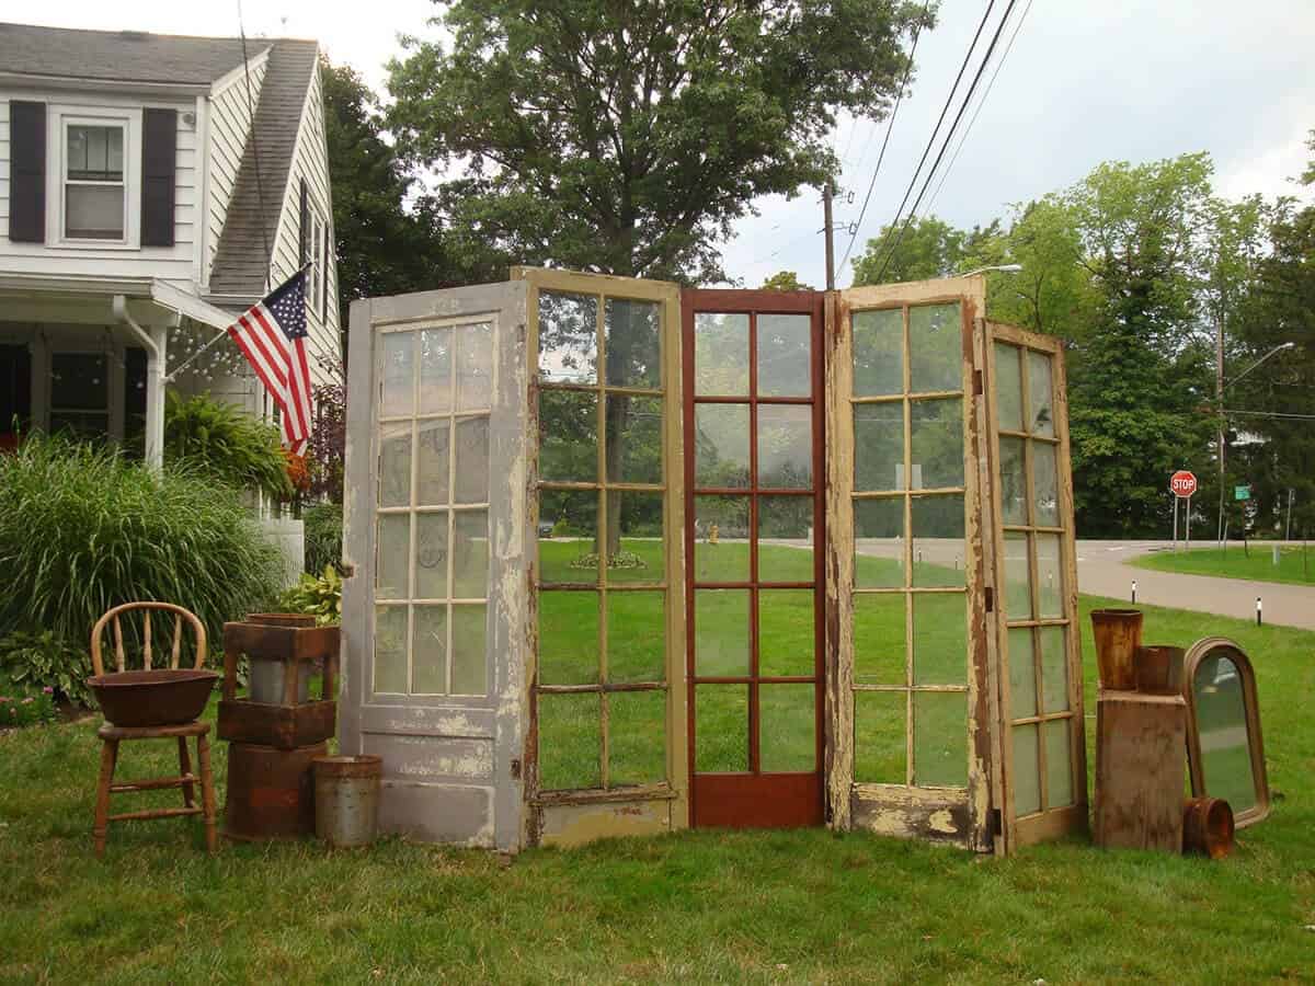
<instances>
[{"instance_id":1,"label":"leftmost door, grey with peeling paint and frosted panes","mask_svg":"<svg viewBox=\"0 0 1315 986\"><path fill-rule=\"evenodd\" d=\"M526 289L351 308L345 753L384 761L380 824L521 844Z\"/></svg>"}]
</instances>

